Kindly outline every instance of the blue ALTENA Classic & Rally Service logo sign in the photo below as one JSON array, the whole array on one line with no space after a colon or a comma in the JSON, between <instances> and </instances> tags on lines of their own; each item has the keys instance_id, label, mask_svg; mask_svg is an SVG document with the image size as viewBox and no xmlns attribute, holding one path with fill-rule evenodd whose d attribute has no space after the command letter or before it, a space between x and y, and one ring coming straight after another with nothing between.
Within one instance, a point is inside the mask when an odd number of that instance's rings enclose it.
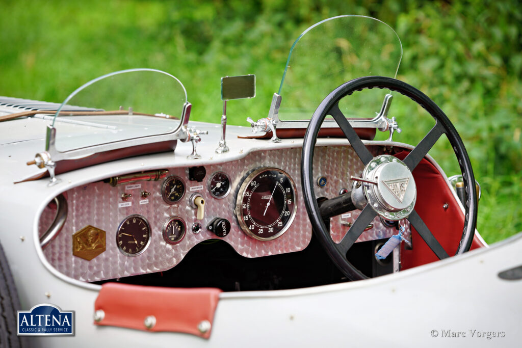
<instances>
[{"instance_id":1,"label":"blue ALTENA Classic & Rally Service logo sign","mask_svg":"<svg viewBox=\"0 0 522 348\"><path fill-rule=\"evenodd\" d=\"M42 303L31 310L17 311L18 335L74 335L74 311L62 311L55 305Z\"/></svg>"}]
</instances>

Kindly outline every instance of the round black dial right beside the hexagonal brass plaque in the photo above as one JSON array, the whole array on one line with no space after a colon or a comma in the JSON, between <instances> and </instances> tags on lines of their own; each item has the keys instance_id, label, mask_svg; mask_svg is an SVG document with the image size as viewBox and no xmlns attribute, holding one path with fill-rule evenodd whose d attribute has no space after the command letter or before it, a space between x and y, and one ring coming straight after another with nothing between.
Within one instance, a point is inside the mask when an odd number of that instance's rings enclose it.
<instances>
[{"instance_id":1,"label":"round black dial right beside the hexagonal brass plaque","mask_svg":"<svg viewBox=\"0 0 522 348\"><path fill-rule=\"evenodd\" d=\"M120 223L116 244L127 256L136 256L150 244L150 226L147 219L138 214L129 215Z\"/></svg>"}]
</instances>

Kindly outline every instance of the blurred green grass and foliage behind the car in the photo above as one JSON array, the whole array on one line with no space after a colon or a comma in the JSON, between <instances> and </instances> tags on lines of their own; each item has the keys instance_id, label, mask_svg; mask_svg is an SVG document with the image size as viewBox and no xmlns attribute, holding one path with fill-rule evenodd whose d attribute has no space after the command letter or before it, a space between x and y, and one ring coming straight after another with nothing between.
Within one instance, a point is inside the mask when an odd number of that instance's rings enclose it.
<instances>
[{"instance_id":1,"label":"blurred green grass and foliage behind the car","mask_svg":"<svg viewBox=\"0 0 522 348\"><path fill-rule=\"evenodd\" d=\"M257 96L229 103L232 124L265 117L293 40L340 14L394 28L398 78L429 95L461 134L482 185L478 229L488 242L522 230L522 7L512 1L232 0L0 2L0 95L61 102L88 80L149 67L183 81L192 116L218 122L220 77L256 74ZM415 105L395 103L404 134ZM413 116L412 116L413 115ZM402 121L404 119L404 121ZM422 133L425 134L425 133ZM404 138L401 138L404 137ZM431 153L447 170L447 145Z\"/></svg>"}]
</instances>

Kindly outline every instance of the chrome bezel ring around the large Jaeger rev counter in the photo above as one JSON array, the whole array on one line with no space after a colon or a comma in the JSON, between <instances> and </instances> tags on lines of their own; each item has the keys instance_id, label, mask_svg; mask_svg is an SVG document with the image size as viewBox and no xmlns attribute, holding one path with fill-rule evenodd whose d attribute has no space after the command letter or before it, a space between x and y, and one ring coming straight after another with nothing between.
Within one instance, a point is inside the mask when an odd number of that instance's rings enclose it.
<instances>
[{"instance_id":1,"label":"chrome bezel ring around the large Jaeger rev counter","mask_svg":"<svg viewBox=\"0 0 522 348\"><path fill-rule=\"evenodd\" d=\"M250 183L252 182L252 179L255 178L257 175L264 173L264 172L268 172L268 171L277 171L288 178L288 180L290 181L290 184L292 185L293 196L294 196L293 199L294 199L295 203L294 203L294 209L290 215L290 219L283 226L281 231L279 231L277 234L275 234L271 237L263 238L263 237L259 237L258 235L256 235L252 231L250 231L250 229L248 228L248 225L246 224L244 216L243 216L243 209L241 209L241 204L243 202L243 195L245 194L245 190L248 187L248 185L250 185ZM236 205L235 205L234 211L235 211L236 218L238 218L238 222L241 227L241 230L243 230L243 232L247 236L257 239L258 241L267 242L267 241L272 241L276 238L279 238L281 235L283 235L284 232L287 232L287 230L289 229L293 220L295 219L295 214L297 213L298 204L299 204L298 203L298 192L295 188L295 183L294 183L292 177L287 172L283 171L282 169L279 169L276 167L262 167L262 168L256 169L252 173L248 174L248 176L243 180L243 183L241 184L241 187L239 188L239 191L238 191L238 197L236 197Z\"/></svg>"}]
</instances>

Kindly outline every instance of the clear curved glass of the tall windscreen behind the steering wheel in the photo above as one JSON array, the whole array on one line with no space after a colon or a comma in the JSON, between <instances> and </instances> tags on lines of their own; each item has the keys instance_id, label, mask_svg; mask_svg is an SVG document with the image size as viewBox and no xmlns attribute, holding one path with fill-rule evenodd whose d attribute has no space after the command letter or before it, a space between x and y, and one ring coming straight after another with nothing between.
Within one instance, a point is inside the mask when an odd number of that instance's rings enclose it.
<instances>
[{"instance_id":1,"label":"clear curved glass of the tall windscreen behind the steering wheel","mask_svg":"<svg viewBox=\"0 0 522 348\"><path fill-rule=\"evenodd\" d=\"M279 118L310 119L326 95L354 78L395 78L401 58L397 33L382 21L347 15L318 22L290 49L278 92ZM374 117L387 92L365 93L350 99L350 105L341 103L339 107L347 117Z\"/></svg>"}]
</instances>

